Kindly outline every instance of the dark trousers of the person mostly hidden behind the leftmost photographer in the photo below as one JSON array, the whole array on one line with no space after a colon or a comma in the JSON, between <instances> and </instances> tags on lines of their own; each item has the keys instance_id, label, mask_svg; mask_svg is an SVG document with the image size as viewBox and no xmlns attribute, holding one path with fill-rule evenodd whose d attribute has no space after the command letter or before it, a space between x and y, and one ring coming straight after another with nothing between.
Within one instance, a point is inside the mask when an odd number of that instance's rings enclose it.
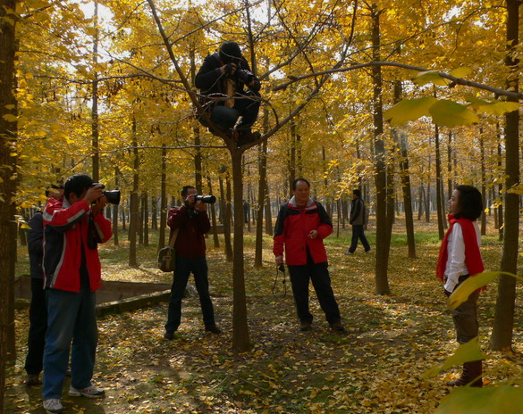
<instances>
[{"instance_id":1,"label":"dark trousers of the person mostly hidden behind the leftmost photographer","mask_svg":"<svg viewBox=\"0 0 523 414\"><path fill-rule=\"evenodd\" d=\"M30 331L25 370L28 374L42 372L44 348L46 346L47 308L44 281L31 278Z\"/></svg>"}]
</instances>

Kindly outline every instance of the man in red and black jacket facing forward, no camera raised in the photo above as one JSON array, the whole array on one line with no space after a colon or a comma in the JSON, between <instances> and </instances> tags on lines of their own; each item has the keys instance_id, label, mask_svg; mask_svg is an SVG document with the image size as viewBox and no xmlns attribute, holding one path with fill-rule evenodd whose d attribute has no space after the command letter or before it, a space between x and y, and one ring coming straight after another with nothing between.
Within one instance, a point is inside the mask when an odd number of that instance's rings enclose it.
<instances>
[{"instance_id":1,"label":"man in red and black jacket facing forward, no camera raised","mask_svg":"<svg viewBox=\"0 0 523 414\"><path fill-rule=\"evenodd\" d=\"M325 319L336 331L344 332L340 309L334 298L329 276L327 253L323 240L333 232L333 224L324 207L310 198L310 184L305 178L292 183L294 196L283 204L274 230L276 265L283 264L283 250L289 274L292 293L301 323L299 329L308 331L312 326L312 315L308 310L308 281L316 296Z\"/></svg>"}]
</instances>

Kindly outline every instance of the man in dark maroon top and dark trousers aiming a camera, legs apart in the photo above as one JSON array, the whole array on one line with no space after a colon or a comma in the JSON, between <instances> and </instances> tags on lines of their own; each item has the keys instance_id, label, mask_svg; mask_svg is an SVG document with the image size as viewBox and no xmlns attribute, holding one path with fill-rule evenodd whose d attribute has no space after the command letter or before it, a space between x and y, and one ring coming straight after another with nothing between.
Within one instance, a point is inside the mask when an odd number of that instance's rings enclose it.
<instances>
[{"instance_id":1,"label":"man in dark maroon top and dark trousers aiming a camera, legs apart","mask_svg":"<svg viewBox=\"0 0 523 414\"><path fill-rule=\"evenodd\" d=\"M206 242L204 235L211 228L207 216L207 204L215 203L214 196L202 197L198 195L196 187L183 186L181 189L183 205L169 211L167 225L173 230L178 229L174 249L176 252L176 268L173 275L173 286L169 299L167 323L165 324L164 338L174 339L174 332L181 323L181 299L190 273L194 275L199 302L203 314L206 331L219 334L221 331L215 324L215 310L209 295L207 278Z\"/></svg>"}]
</instances>

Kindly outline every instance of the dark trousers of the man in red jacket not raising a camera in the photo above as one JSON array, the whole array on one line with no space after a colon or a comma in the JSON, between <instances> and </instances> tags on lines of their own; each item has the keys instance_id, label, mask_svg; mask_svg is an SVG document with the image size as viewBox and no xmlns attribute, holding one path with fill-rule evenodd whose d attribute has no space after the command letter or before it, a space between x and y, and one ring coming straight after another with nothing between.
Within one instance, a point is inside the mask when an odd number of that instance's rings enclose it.
<instances>
[{"instance_id":1,"label":"dark trousers of the man in red jacket not raising a camera","mask_svg":"<svg viewBox=\"0 0 523 414\"><path fill-rule=\"evenodd\" d=\"M298 310L300 322L312 323L312 315L308 311L308 280L312 280L312 286L316 291L317 300L325 312L327 322L339 322L341 319L338 303L334 298L329 276L328 262L309 263L304 266L289 266L291 277L292 294Z\"/></svg>"}]
</instances>

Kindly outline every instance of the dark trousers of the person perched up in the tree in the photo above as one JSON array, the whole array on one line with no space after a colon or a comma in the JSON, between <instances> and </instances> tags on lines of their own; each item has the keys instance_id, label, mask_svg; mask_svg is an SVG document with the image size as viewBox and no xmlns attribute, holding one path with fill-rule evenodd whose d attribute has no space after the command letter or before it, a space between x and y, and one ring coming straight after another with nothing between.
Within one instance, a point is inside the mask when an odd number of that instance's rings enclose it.
<instances>
[{"instance_id":1,"label":"dark trousers of the person perched up in the tree","mask_svg":"<svg viewBox=\"0 0 523 414\"><path fill-rule=\"evenodd\" d=\"M223 131L228 131L236 120L241 116L238 129L249 129L257 120L260 100L257 92L247 91L244 95L234 99L234 106L229 108L224 105L216 105L211 111L211 121ZM200 118L200 121L203 119ZM205 125L204 122L202 122ZM207 127L207 125L206 125Z\"/></svg>"}]
</instances>

